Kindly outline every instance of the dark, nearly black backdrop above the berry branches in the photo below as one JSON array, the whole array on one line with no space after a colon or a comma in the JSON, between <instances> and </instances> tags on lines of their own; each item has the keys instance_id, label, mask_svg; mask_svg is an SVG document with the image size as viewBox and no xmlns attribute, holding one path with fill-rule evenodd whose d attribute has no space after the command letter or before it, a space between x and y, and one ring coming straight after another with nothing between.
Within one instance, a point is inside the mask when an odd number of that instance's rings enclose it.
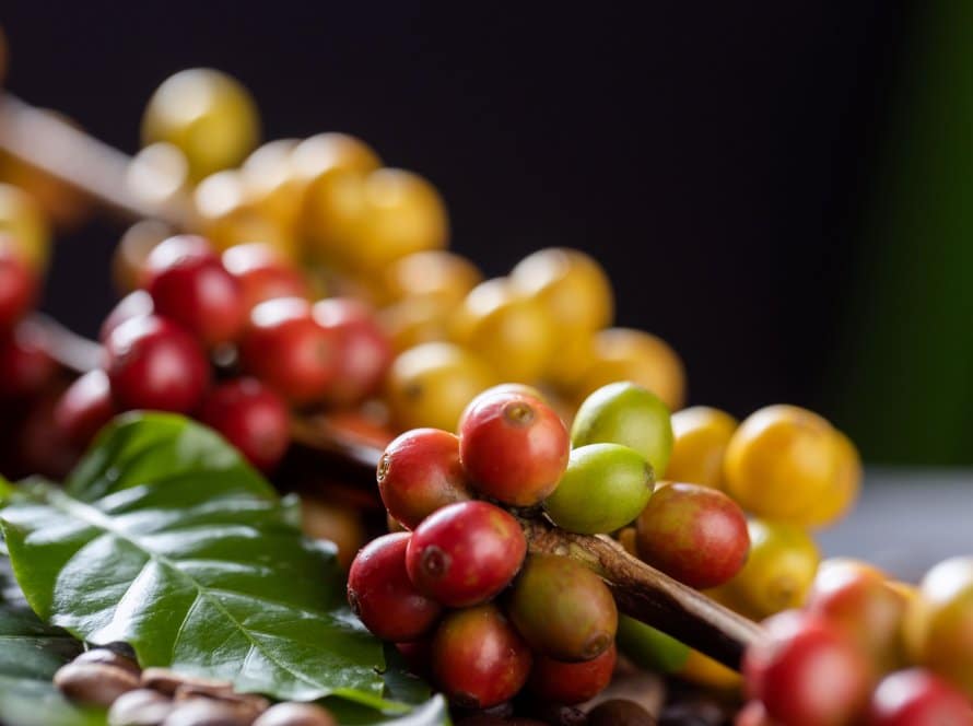
<instances>
[{"instance_id":1,"label":"dark, nearly black backdrop above the berry branches","mask_svg":"<svg viewBox=\"0 0 973 726\"><path fill-rule=\"evenodd\" d=\"M7 0L0 24L11 90L105 141L136 149L174 71L226 70L266 138L347 131L430 178L488 274L541 246L595 254L619 321L680 352L693 402L842 423L823 376L908 13L612 4ZM79 331L110 305L119 233L59 247L46 308Z\"/></svg>"}]
</instances>

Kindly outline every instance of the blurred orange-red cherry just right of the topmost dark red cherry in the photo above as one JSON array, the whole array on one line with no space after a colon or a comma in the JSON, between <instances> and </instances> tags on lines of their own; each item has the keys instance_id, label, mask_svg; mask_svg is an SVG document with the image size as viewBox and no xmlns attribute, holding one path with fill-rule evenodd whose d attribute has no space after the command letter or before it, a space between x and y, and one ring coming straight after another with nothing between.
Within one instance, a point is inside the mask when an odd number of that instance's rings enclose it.
<instances>
[{"instance_id":1,"label":"blurred orange-red cherry just right of the topmost dark red cherry","mask_svg":"<svg viewBox=\"0 0 973 726\"><path fill-rule=\"evenodd\" d=\"M239 284L244 309L278 297L310 298L307 279L270 245L251 242L223 253L223 267Z\"/></svg>"}]
</instances>

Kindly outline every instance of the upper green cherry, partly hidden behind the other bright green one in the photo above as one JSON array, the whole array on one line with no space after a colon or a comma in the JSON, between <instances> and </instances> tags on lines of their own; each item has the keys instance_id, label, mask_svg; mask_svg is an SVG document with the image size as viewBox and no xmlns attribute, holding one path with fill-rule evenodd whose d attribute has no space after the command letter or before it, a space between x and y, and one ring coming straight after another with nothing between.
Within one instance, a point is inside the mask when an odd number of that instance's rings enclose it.
<instances>
[{"instance_id":1,"label":"upper green cherry, partly hidden behind the other bright green one","mask_svg":"<svg viewBox=\"0 0 973 726\"><path fill-rule=\"evenodd\" d=\"M622 444L638 452L661 476L672 455L669 409L634 383L602 386L585 399L571 428L571 445Z\"/></svg>"}]
</instances>

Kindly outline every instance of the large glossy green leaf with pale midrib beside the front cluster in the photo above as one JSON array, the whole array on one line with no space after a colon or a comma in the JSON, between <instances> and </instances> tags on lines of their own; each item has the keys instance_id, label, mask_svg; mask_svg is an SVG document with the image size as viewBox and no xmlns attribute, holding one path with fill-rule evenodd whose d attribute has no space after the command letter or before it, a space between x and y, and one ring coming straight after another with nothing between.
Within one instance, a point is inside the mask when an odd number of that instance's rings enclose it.
<instances>
[{"instance_id":1,"label":"large glossy green leaf with pale midrib beside the front cluster","mask_svg":"<svg viewBox=\"0 0 973 726\"><path fill-rule=\"evenodd\" d=\"M383 698L382 645L344 605L333 548L304 539L292 507L211 431L124 417L68 491L0 513L45 620L242 692L408 710Z\"/></svg>"}]
</instances>

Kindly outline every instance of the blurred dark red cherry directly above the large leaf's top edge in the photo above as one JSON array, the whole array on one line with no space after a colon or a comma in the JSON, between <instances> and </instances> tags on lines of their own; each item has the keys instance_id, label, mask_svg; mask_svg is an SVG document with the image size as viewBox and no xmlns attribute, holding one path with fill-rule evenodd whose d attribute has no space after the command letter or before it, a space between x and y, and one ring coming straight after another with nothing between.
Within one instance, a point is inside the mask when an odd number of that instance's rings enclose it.
<instances>
[{"instance_id":1,"label":"blurred dark red cherry directly above the large leaf's top edge","mask_svg":"<svg viewBox=\"0 0 973 726\"><path fill-rule=\"evenodd\" d=\"M122 410L187 413L202 399L210 366L199 343L156 315L115 328L105 341L112 394Z\"/></svg>"}]
</instances>

